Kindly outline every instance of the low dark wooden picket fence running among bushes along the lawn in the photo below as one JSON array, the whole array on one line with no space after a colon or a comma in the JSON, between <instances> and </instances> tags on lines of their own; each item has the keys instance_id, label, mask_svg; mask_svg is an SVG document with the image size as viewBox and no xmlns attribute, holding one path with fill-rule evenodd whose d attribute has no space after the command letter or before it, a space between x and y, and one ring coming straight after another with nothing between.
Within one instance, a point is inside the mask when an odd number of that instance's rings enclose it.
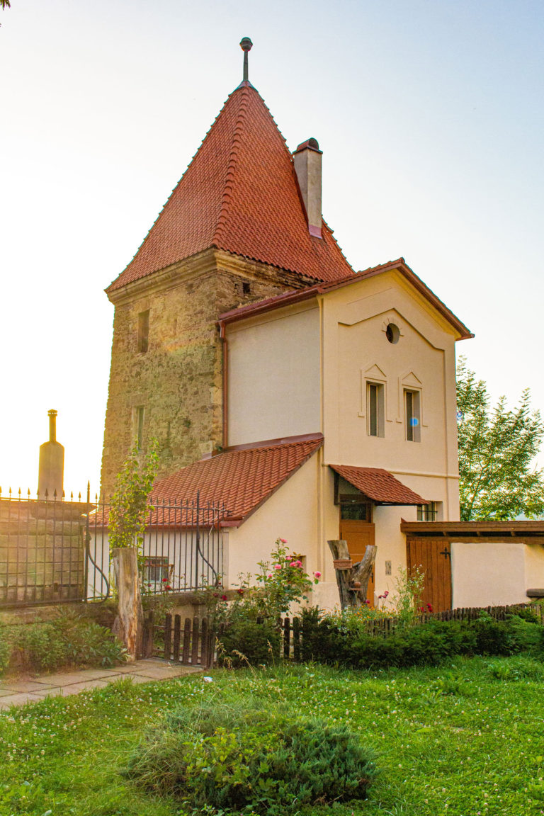
<instances>
[{"instance_id":1,"label":"low dark wooden picket fence running among bushes along the lawn","mask_svg":"<svg viewBox=\"0 0 544 816\"><path fill-rule=\"evenodd\" d=\"M463 607L443 612L419 614L414 623L429 623L431 620L475 620L482 612L487 612L496 620L506 620L515 610L526 609L533 612L544 625L544 611L540 604L515 604L510 606ZM259 621L258 621L259 623ZM366 632L375 637L387 637L396 632L401 620L398 618L373 618L366 622ZM281 655L285 660L299 662L303 645L303 623L299 618L285 616L281 619ZM179 614L166 614L164 625L156 625L153 611L144 615L144 637L142 655L161 657L169 662L186 666L209 668L217 657L217 641L221 633L213 632L207 618L185 618Z\"/></svg>"}]
</instances>

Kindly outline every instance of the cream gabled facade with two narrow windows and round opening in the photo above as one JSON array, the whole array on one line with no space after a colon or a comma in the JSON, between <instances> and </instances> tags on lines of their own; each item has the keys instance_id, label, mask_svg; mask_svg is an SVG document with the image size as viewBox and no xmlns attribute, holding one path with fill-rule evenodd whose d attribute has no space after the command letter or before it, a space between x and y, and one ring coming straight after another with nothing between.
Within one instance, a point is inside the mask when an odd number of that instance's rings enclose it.
<instances>
[{"instance_id":1,"label":"cream gabled facade with two narrow windows and round opening","mask_svg":"<svg viewBox=\"0 0 544 816\"><path fill-rule=\"evenodd\" d=\"M453 329L396 272L330 291L321 308L325 461L386 468L457 520ZM383 437L369 436L368 382L383 384ZM405 389L420 393L421 441L406 440Z\"/></svg>"}]
</instances>

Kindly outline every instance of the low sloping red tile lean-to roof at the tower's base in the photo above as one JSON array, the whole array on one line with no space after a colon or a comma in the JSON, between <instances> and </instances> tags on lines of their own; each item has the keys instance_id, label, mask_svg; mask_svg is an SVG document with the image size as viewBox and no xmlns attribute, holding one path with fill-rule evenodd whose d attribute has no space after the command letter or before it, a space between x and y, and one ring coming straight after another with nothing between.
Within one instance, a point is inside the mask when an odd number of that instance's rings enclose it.
<instances>
[{"instance_id":1,"label":"low sloping red tile lean-to roof at the tower's base","mask_svg":"<svg viewBox=\"0 0 544 816\"><path fill-rule=\"evenodd\" d=\"M238 526L323 444L320 433L293 441L259 442L201 459L153 486L157 499L224 503L226 520Z\"/></svg>"}]
</instances>

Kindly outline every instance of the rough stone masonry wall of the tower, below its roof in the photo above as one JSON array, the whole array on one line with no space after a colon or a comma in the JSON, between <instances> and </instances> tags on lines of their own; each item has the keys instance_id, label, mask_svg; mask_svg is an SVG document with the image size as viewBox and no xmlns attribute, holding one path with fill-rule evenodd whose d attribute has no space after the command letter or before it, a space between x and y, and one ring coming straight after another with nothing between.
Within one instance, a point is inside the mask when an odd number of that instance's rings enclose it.
<instances>
[{"instance_id":1,"label":"rough stone masonry wall of the tower, below its roof","mask_svg":"<svg viewBox=\"0 0 544 816\"><path fill-rule=\"evenodd\" d=\"M246 268L241 276L216 266L158 291L149 276L147 291L140 287L134 299L117 304L102 459L104 495L112 492L134 444L138 406L144 406L143 450L149 437L159 443L158 477L222 445L219 314L307 283L263 264L248 261ZM148 351L139 353L138 315L146 310Z\"/></svg>"}]
</instances>

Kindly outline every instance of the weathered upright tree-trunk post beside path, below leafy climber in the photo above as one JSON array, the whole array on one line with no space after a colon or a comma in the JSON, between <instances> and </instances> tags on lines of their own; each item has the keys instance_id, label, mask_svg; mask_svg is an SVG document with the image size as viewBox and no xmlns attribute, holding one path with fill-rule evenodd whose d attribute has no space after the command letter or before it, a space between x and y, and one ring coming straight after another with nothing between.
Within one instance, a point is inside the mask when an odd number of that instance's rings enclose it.
<instances>
[{"instance_id":1,"label":"weathered upright tree-trunk post beside path, below leafy climber","mask_svg":"<svg viewBox=\"0 0 544 816\"><path fill-rule=\"evenodd\" d=\"M144 610L139 592L136 548L114 549L113 570L117 586L117 618L112 631L124 643L127 658L137 660L142 652Z\"/></svg>"}]
</instances>

